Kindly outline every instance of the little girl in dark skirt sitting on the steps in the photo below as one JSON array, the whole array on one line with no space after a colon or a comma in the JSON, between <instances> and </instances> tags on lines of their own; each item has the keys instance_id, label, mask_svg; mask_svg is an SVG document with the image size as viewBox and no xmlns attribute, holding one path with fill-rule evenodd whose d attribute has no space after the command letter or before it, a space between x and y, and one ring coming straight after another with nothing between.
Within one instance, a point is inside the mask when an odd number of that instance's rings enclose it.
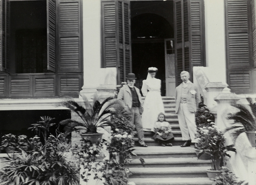
<instances>
[{"instance_id":1,"label":"little girl in dark skirt sitting on the steps","mask_svg":"<svg viewBox=\"0 0 256 185\"><path fill-rule=\"evenodd\" d=\"M171 140L174 139L173 134L171 133L172 127L166 121L165 115L160 113L157 117L158 121L154 124L154 136L153 139L158 142L161 146L170 146L172 147Z\"/></svg>"}]
</instances>

